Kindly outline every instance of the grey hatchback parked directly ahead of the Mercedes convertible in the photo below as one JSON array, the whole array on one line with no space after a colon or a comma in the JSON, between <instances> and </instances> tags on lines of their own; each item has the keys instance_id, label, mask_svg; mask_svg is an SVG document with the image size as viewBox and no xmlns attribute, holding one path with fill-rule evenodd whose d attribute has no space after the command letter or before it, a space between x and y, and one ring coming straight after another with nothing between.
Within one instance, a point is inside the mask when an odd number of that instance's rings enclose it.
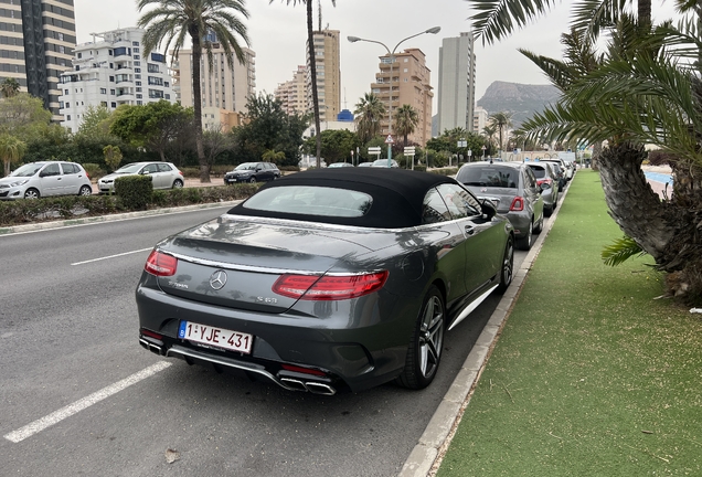
<instances>
[{"instance_id":1,"label":"grey hatchback parked directly ahead of the Mercedes convertible","mask_svg":"<svg viewBox=\"0 0 702 477\"><path fill-rule=\"evenodd\" d=\"M456 180L480 200L489 200L514 226L517 246L530 250L543 227L543 198L536 177L524 162L469 162Z\"/></svg>"}]
</instances>

